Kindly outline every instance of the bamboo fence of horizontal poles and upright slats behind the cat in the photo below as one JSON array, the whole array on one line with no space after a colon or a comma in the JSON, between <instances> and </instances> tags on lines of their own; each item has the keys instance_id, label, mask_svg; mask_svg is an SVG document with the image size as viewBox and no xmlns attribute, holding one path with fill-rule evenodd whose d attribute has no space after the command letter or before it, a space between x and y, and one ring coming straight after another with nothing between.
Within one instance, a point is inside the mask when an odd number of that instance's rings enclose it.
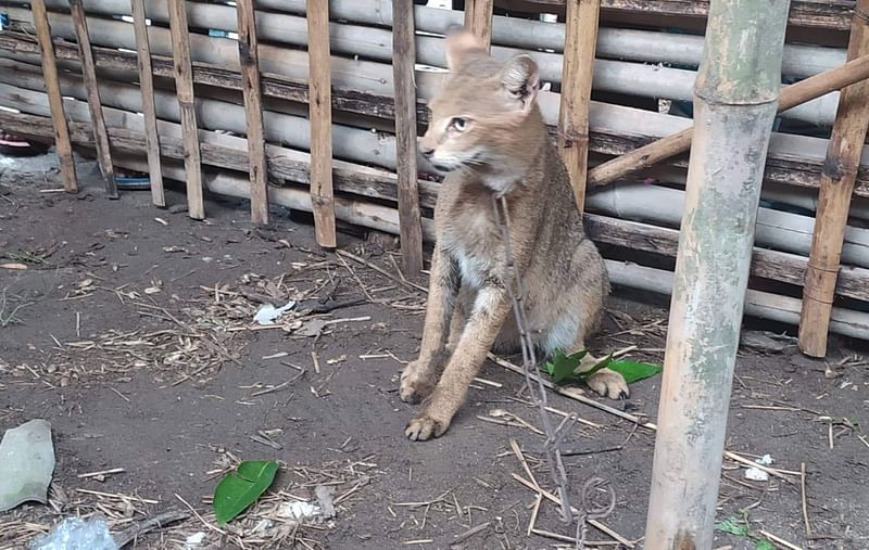
<instances>
[{"instance_id":1,"label":"bamboo fence of horizontal poles and upright slats behind the cat","mask_svg":"<svg viewBox=\"0 0 869 550\"><path fill-rule=\"evenodd\" d=\"M326 247L338 220L399 234L414 277L439 189L416 155L416 130L444 81L442 37L466 24L493 55L527 52L539 63L541 111L613 282L669 294L692 120L666 105L693 99L708 2L538 4L563 23L492 16L491 0L468 1L466 14L411 3L4 0L0 127L54 142L71 192L72 149L96 149L110 195L119 166L150 174L156 206L166 203L161 175L186 182L194 218L207 214L207 190L250 197L255 223L268 221L269 203L311 212ZM861 41L847 48L854 12L854 0L791 2L790 86L769 143L745 302L750 316L798 324L802 312L822 323L801 331L813 355L826 353L826 324L869 340L865 135L841 155L851 192L831 194L837 176L824 168L835 136L858 135L842 113L865 119L866 102L854 98L865 98L856 82L869 76L869 57ZM808 314L806 284L821 303Z\"/></svg>"}]
</instances>

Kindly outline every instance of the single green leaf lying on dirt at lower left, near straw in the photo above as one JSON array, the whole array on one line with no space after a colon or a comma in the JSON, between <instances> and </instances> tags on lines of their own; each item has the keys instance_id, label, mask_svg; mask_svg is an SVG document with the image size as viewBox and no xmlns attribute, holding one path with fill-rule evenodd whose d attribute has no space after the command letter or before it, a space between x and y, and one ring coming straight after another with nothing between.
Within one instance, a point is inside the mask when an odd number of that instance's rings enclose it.
<instances>
[{"instance_id":1,"label":"single green leaf lying on dirt at lower left, near straw","mask_svg":"<svg viewBox=\"0 0 869 550\"><path fill-rule=\"evenodd\" d=\"M245 460L221 479L214 489L217 525L225 525L253 504L275 481L277 472L278 463L274 460Z\"/></svg>"}]
</instances>

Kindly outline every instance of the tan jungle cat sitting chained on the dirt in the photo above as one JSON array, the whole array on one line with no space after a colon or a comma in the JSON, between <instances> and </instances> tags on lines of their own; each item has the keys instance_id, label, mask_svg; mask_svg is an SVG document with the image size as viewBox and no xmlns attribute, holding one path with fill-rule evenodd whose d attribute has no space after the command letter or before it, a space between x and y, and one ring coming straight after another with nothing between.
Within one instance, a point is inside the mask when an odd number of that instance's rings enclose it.
<instances>
[{"instance_id":1,"label":"tan jungle cat sitting chained on the dirt","mask_svg":"<svg viewBox=\"0 0 869 550\"><path fill-rule=\"evenodd\" d=\"M413 440L450 427L490 349L520 346L493 195L506 199L509 245L536 347L547 355L583 349L609 293L606 267L585 236L567 170L537 104L534 61L496 61L463 30L448 36L446 63L449 79L429 104L428 131L419 143L446 177L434 208L419 357L401 375L401 399L424 401L405 429ZM588 357L580 370L594 362ZM588 385L614 399L628 396L625 379L608 369L592 374Z\"/></svg>"}]
</instances>

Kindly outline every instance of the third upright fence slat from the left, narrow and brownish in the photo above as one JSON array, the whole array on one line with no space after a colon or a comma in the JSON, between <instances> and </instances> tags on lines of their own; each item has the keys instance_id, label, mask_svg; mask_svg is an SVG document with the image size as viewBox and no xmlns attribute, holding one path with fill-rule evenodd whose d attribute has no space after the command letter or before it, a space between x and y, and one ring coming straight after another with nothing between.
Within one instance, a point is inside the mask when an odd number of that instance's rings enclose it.
<instances>
[{"instance_id":1,"label":"third upright fence slat from the left, narrow and brownish","mask_svg":"<svg viewBox=\"0 0 869 550\"><path fill-rule=\"evenodd\" d=\"M138 51L139 87L142 90L142 115L144 115L144 149L148 150L148 177L151 180L151 202L155 206L166 206L163 193L163 168L160 158L160 136L156 132L156 110L154 108L154 77L151 68L151 44L148 39L144 0L131 0L133 28L136 33Z\"/></svg>"}]
</instances>

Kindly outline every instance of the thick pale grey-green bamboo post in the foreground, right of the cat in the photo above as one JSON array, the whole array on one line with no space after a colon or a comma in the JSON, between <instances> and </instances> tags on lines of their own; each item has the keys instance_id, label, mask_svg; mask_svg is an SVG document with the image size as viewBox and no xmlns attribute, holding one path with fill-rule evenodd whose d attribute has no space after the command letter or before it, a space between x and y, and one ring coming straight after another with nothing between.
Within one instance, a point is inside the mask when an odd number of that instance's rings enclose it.
<instances>
[{"instance_id":1,"label":"thick pale grey-green bamboo post in the foreground, right of the cat","mask_svg":"<svg viewBox=\"0 0 869 550\"><path fill-rule=\"evenodd\" d=\"M733 366L789 0L711 0L694 90L646 550L713 547Z\"/></svg>"}]
</instances>

